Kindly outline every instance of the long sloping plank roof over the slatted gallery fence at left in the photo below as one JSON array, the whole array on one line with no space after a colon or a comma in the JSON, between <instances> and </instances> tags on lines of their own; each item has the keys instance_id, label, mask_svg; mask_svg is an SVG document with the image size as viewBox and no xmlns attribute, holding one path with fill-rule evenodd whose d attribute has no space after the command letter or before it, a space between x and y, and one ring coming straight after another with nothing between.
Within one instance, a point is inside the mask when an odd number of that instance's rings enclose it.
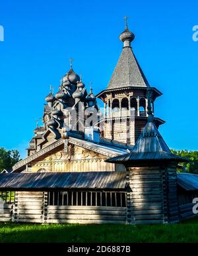
<instances>
[{"instance_id":1,"label":"long sloping plank roof over the slatted gallery fence at left","mask_svg":"<svg viewBox=\"0 0 198 256\"><path fill-rule=\"evenodd\" d=\"M0 174L0 190L110 189L126 186L126 172L34 172Z\"/></svg>"}]
</instances>

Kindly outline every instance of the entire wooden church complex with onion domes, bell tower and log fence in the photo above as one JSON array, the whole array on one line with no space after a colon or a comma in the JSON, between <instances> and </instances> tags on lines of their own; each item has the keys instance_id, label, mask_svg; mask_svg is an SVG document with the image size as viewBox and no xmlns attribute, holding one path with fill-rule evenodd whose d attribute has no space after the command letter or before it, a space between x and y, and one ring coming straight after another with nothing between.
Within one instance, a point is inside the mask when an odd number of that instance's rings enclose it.
<instances>
[{"instance_id":1,"label":"entire wooden church complex with onion domes, bell tower and log fence","mask_svg":"<svg viewBox=\"0 0 198 256\"><path fill-rule=\"evenodd\" d=\"M149 85L125 22L121 56L106 90L94 96L71 69L50 90L43 125L27 157L0 174L0 222L156 224L193 216L198 182L176 174L154 117L162 93ZM98 109L96 97L104 102Z\"/></svg>"}]
</instances>

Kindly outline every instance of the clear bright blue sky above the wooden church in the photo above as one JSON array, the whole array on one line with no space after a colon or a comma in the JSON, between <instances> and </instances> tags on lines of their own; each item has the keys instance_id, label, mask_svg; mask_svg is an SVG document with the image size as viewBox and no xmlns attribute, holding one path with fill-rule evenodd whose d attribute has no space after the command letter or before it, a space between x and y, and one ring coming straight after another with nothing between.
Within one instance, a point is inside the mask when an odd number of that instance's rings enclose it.
<instances>
[{"instance_id":1,"label":"clear bright blue sky above the wooden church","mask_svg":"<svg viewBox=\"0 0 198 256\"><path fill-rule=\"evenodd\" d=\"M168 146L197 150L197 1L1 1L0 147L24 149L42 116L49 85L69 70L83 74L94 93L108 85L121 53L123 16L135 33L133 50L150 82L164 95L155 115Z\"/></svg>"}]
</instances>

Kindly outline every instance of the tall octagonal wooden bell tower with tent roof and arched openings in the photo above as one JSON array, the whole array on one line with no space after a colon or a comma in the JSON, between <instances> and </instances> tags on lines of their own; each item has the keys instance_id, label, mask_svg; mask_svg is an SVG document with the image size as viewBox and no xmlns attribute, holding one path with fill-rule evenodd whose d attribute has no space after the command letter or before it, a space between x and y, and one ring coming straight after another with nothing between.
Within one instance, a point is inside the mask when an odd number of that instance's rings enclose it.
<instances>
[{"instance_id":1,"label":"tall octagonal wooden bell tower with tent roof and arched openings","mask_svg":"<svg viewBox=\"0 0 198 256\"><path fill-rule=\"evenodd\" d=\"M152 112L154 101L162 93L150 87L131 48L135 34L129 31L127 17L125 31L119 35L123 48L112 78L106 90L97 97L104 102L104 115L100 125L102 137L121 143L135 145L147 123L148 90L151 96ZM156 127L164 121L154 118Z\"/></svg>"}]
</instances>

